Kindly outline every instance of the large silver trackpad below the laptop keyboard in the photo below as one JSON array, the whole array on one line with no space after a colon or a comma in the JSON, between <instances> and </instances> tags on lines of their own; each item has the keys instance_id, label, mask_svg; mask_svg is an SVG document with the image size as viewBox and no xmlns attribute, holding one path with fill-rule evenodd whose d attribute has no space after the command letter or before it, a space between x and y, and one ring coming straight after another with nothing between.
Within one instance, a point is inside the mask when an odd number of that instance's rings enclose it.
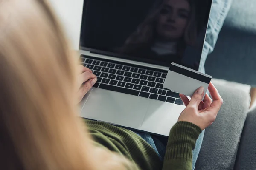
<instances>
[{"instance_id":1,"label":"large silver trackpad below the laptop keyboard","mask_svg":"<svg viewBox=\"0 0 256 170\"><path fill-rule=\"evenodd\" d=\"M150 100L93 88L82 102L82 117L136 129L142 125Z\"/></svg>"}]
</instances>

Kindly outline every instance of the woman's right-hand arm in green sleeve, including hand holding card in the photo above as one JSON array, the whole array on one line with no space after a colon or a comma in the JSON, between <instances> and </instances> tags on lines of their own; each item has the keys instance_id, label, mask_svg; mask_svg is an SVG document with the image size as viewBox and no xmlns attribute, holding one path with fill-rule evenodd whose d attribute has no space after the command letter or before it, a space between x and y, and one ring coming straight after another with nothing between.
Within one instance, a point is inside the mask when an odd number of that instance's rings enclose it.
<instances>
[{"instance_id":1,"label":"woman's right-hand arm in green sleeve, including hand holding card","mask_svg":"<svg viewBox=\"0 0 256 170\"><path fill-rule=\"evenodd\" d=\"M178 122L170 131L163 162L163 170L192 170L192 150L199 134L215 121L223 100L217 89L209 84L212 99L200 87L193 94L191 100L180 94L186 108L180 114Z\"/></svg>"}]
</instances>

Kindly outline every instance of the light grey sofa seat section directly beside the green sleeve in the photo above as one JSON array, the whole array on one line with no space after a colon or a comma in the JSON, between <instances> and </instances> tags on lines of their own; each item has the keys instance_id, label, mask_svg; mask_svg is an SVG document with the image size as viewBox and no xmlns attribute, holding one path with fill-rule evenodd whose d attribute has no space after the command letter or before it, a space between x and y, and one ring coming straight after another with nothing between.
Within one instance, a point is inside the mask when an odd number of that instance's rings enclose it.
<instances>
[{"instance_id":1,"label":"light grey sofa seat section directly beside the green sleeve","mask_svg":"<svg viewBox=\"0 0 256 170\"><path fill-rule=\"evenodd\" d=\"M216 121L205 131L195 170L233 170L250 96L231 85L216 85L224 99Z\"/></svg>"}]
</instances>

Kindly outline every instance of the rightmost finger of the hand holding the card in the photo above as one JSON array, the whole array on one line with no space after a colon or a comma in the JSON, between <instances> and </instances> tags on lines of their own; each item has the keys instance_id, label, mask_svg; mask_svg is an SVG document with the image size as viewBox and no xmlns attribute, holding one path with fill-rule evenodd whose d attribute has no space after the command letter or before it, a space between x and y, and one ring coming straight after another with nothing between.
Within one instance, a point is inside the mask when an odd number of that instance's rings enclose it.
<instances>
[{"instance_id":1,"label":"rightmost finger of the hand holding the card","mask_svg":"<svg viewBox=\"0 0 256 170\"><path fill-rule=\"evenodd\" d=\"M221 105L223 104L223 99L221 98L220 94L218 93L218 90L214 87L212 82L210 82L208 90L213 99L213 102L210 106L215 110L215 112L218 113L218 111L221 108Z\"/></svg>"}]
</instances>

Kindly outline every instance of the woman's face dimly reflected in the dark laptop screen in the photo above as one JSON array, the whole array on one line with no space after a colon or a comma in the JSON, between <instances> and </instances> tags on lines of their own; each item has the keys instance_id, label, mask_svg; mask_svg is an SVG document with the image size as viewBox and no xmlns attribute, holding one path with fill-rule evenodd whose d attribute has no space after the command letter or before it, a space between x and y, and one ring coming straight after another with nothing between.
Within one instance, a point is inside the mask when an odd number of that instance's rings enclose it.
<instances>
[{"instance_id":1,"label":"woman's face dimly reflected in the dark laptop screen","mask_svg":"<svg viewBox=\"0 0 256 170\"><path fill-rule=\"evenodd\" d=\"M183 37L190 12L188 0L165 0L157 21L158 37L162 40Z\"/></svg>"}]
</instances>

